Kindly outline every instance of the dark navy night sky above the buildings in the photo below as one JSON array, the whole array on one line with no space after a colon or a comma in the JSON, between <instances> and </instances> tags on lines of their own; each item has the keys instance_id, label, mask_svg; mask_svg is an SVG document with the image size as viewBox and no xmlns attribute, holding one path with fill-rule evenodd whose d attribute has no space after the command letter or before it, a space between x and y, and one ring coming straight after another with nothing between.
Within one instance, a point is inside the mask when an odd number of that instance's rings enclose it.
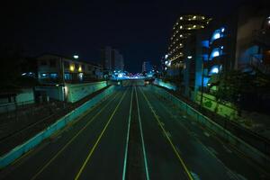
<instances>
[{"instance_id":1,"label":"dark navy night sky above the buildings","mask_svg":"<svg viewBox=\"0 0 270 180\"><path fill-rule=\"evenodd\" d=\"M221 3L222 2L222 3ZM243 0L226 1L18 1L1 4L1 43L27 55L54 52L98 62L103 46L120 49L130 72L143 60L158 64L182 13L220 17Z\"/></svg>"}]
</instances>

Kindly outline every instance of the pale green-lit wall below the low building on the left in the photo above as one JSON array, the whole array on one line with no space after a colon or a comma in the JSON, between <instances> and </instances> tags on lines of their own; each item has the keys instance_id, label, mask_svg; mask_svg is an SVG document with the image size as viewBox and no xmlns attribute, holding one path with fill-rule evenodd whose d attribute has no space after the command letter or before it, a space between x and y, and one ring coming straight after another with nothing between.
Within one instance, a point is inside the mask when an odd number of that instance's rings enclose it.
<instances>
[{"instance_id":1,"label":"pale green-lit wall below the low building on the left","mask_svg":"<svg viewBox=\"0 0 270 180\"><path fill-rule=\"evenodd\" d=\"M85 84L67 84L67 101L75 103L89 94L107 86L106 81Z\"/></svg>"}]
</instances>

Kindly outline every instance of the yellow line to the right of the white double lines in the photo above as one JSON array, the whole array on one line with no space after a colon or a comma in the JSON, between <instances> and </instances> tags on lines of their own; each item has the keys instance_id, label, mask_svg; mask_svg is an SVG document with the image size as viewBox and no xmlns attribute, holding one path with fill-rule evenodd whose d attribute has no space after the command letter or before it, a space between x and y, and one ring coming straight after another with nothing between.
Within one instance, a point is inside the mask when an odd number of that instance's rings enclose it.
<instances>
[{"instance_id":1,"label":"yellow line to the right of the white double lines","mask_svg":"<svg viewBox=\"0 0 270 180\"><path fill-rule=\"evenodd\" d=\"M186 175L188 176L189 179L193 180L193 176L190 174L190 172L189 172L187 166L184 164L184 160L182 159L182 157L180 157L180 155L179 155L177 149L175 148L175 145L174 145L173 141L172 141L172 140L169 138L169 136L167 135L167 132L166 132L165 128L164 128L164 127L162 126L162 124L161 124L161 121L159 121L159 118L158 118L158 116L157 116L157 113L154 111L154 109L153 109L151 103L149 103L148 98L147 98L146 95L143 93L143 91L142 91L140 88L139 88L139 90L140 90L140 92L143 94L145 100L147 101L148 106L149 106L149 108L151 109L151 112L154 114L154 117L155 117L155 119L157 120L157 122L158 122L158 124L159 124L159 127L163 130L163 132L164 132L164 134L165 134L165 136L166 136L166 139L168 140L169 144L170 144L171 147L173 148L176 157L179 159L181 165L184 167L184 171L185 171Z\"/></svg>"}]
</instances>

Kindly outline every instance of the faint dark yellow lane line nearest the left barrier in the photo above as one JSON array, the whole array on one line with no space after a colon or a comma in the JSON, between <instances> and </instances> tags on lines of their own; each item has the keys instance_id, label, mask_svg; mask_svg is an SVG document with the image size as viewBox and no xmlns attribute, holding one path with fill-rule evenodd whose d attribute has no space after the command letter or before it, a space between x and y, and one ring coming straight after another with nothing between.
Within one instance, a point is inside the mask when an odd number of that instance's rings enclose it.
<instances>
[{"instance_id":1,"label":"faint dark yellow lane line nearest the left barrier","mask_svg":"<svg viewBox=\"0 0 270 180\"><path fill-rule=\"evenodd\" d=\"M113 99L115 99L115 97L117 96L117 94L115 94L114 96L113 96L113 98L112 98L112 100ZM48 161L48 163L46 163L44 166L42 166L42 168L38 171L38 173L36 173L35 175L33 175L32 177L31 177L31 180L33 180L33 179L36 179L75 139L76 139L76 137L78 137L90 124L91 124L91 122L92 121L94 121L94 119L101 113L101 112L103 112L103 110L105 110L105 108L110 104L110 103L112 103L112 100L110 100L110 102L108 102L108 103L106 103L104 106L103 106L103 108L99 111L99 112L97 112L91 119L90 119L90 121L88 121L86 124L85 124L85 126L81 129L81 130L79 130L77 133L76 133L76 135L72 138L72 139L70 139L68 142L67 142L67 144L63 147L63 148L61 148L59 151L58 151L58 153L54 156L54 157L52 157L52 158L50 158L49 159L49 161ZM83 117L81 117L81 118L83 118Z\"/></svg>"}]
</instances>

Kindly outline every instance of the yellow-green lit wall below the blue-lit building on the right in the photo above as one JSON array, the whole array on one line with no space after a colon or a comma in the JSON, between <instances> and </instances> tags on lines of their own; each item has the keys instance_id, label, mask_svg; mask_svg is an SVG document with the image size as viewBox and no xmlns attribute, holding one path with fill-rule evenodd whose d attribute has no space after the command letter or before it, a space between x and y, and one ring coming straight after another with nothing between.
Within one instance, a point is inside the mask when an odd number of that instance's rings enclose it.
<instances>
[{"instance_id":1,"label":"yellow-green lit wall below the blue-lit building on the right","mask_svg":"<svg viewBox=\"0 0 270 180\"><path fill-rule=\"evenodd\" d=\"M201 92L196 94L195 103L201 103ZM230 120L238 118L238 111L234 104L218 103L215 96L211 94L203 94L202 107L210 110L211 112L216 112L223 117L229 118Z\"/></svg>"}]
</instances>

